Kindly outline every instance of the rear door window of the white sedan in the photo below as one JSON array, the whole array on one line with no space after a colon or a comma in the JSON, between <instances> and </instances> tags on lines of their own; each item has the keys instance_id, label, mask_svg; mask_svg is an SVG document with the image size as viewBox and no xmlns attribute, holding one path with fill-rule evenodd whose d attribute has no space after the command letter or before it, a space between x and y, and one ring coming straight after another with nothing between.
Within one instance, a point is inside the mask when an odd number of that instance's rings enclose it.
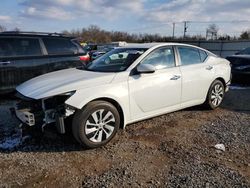
<instances>
[{"instance_id":1,"label":"rear door window of the white sedan","mask_svg":"<svg viewBox=\"0 0 250 188\"><path fill-rule=\"evenodd\" d=\"M199 50L191 47L178 47L181 65L192 65L201 63Z\"/></svg>"}]
</instances>

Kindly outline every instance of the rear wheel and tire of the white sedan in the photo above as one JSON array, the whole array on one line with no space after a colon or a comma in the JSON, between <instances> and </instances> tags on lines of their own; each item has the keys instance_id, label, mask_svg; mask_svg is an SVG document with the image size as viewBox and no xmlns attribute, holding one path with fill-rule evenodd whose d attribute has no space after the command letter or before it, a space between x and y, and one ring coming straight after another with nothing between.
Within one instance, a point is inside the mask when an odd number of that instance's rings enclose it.
<instances>
[{"instance_id":1,"label":"rear wheel and tire of the white sedan","mask_svg":"<svg viewBox=\"0 0 250 188\"><path fill-rule=\"evenodd\" d=\"M218 89L217 89L218 88ZM217 90L221 90L217 92ZM220 106L225 95L225 86L220 80L215 80L207 93L207 98L205 101L205 106L211 110ZM216 102L217 100L217 102Z\"/></svg>"}]
</instances>

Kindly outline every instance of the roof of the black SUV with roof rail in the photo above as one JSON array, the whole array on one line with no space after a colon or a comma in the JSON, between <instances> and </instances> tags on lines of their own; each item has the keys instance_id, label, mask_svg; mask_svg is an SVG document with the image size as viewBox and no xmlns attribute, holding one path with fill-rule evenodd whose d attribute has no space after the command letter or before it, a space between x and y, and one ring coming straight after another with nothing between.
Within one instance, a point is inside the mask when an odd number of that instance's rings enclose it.
<instances>
[{"instance_id":1,"label":"roof of the black SUV with roof rail","mask_svg":"<svg viewBox=\"0 0 250 188\"><path fill-rule=\"evenodd\" d=\"M74 37L67 36L63 33L47 33L47 32L26 32L26 31L4 31L0 32L0 36L19 36L19 37L60 37L60 38L70 38Z\"/></svg>"}]
</instances>

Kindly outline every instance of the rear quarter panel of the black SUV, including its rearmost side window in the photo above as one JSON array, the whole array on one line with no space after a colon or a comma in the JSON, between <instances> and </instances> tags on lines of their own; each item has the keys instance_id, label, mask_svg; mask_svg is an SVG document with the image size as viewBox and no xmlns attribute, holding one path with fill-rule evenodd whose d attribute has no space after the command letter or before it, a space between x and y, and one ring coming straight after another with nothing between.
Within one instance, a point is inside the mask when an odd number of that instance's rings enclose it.
<instances>
[{"instance_id":1,"label":"rear quarter panel of the black SUV, including its rearmost side window","mask_svg":"<svg viewBox=\"0 0 250 188\"><path fill-rule=\"evenodd\" d=\"M49 58L49 71L81 66L84 50L69 38L44 37L43 43Z\"/></svg>"}]
</instances>

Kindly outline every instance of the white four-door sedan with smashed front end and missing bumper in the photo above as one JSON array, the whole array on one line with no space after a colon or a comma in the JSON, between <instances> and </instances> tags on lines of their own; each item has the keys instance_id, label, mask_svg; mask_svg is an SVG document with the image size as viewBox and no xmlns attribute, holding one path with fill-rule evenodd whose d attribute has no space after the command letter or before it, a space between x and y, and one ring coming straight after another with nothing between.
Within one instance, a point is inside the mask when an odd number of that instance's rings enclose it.
<instances>
[{"instance_id":1,"label":"white four-door sedan with smashed front end and missing bumper","mask_svg":"<svg viewBox=\"0 0 250 188\"><path fill-rule=\"evenodd\" d=\"M205 104L218 107L230 84L227 60L177 43L130 44L86 66L33 78L16 90L15 111L28 126L54 123L65 132L72 117L76 140L95 148L127 124ZM52 124L53 125L53 124Z\"/></svg>"}]
</instances>

